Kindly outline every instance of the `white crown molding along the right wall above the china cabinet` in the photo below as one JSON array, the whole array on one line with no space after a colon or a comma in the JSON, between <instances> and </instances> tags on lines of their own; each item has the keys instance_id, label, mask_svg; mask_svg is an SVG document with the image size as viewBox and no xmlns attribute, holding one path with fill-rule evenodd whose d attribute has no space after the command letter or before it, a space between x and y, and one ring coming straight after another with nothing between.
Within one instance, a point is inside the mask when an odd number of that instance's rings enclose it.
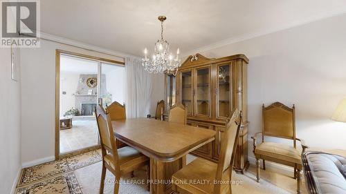
<instances>
[{"instance_id":1,"label":"white crown molding along the right wall above the china cabinet","mask_svg":"<svg viewBox=\"0 0 346 194\"><path fill-rule=\"evenodd\" d=\"M253 39L255 37L262 37L264 35L269 35L269 34L272 34L274 32L280 32L282 30L288 30L290 28L295 28L295 27L298 27L298 26L303 26L304 24L307 24L307 23L312 23L314 21L319 21L319 20L322 20L322 19L330 18L330 17L336 17L338 15L345 14L345 13L346 13L345 8L340 8L339 10L334 10L333 12L316 14L313 17L308 17L308 18L305 18L305 19L301 19L300 21L286 23L286 24L284 24L282 26L277 26L275 28L268 28L268 29L265 29L265 30L258 30L257 32L252 32L252 33L248 33L248 34L245 34L245 35L239 35L239 36L236 36L236 37L231 37L229 39L224 39L222 41L218 41L218 42L212 43L210 45L201 46L199 48L188 50L187 52L182 53L181 56L188 57L188 56L194 55L196 53L201 53L201 52L205 52L205 51L212 50L212 49L215 49L215 48L220 48L222 46L227 46L229 44L237 43L237 42L240 42L240 41L246 41L248 39Z\"/></svg>"}]
</instances>

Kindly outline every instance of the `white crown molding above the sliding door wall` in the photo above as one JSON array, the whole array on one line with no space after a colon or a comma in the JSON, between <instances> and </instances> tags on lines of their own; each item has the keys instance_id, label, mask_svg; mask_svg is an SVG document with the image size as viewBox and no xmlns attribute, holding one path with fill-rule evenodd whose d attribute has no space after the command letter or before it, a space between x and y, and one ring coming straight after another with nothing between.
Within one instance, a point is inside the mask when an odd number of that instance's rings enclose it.
<instances>
[{"instance_id":1,"label":"white crown molding above the sliding door wall","mask_svg":"<svg viewBox=\"0 0 346 194\"><path fill-rule=\"evenodd\" d=\"M104 54L107 54L107 55L113 55L113 56L116 56L116 57L122 57L122 58L132 57L132 58L140 59L140 57L138 57L138 56L129 55L129 54L125 53L125 52L109 50L109 49L106 49L106 48L101 48L99 46L93 46L91 44L82 43L80 41L74 41L74 40L71 40L71 39L66 39L64 37L58 37L58 36L51 35L51 34L48 34L48 33L45 33L45 32L39 32L39 33L40 33L39 34L40 38L46 39L48 41L55 41L57 43L63 43L63 44L69 45L69 46L75 46L75 47L78 47L78 48L83 48L85 50L91 50L91 51L94 51L94 52L101 52L101 53L104 53Z\"/></svg>"}]
</instances>

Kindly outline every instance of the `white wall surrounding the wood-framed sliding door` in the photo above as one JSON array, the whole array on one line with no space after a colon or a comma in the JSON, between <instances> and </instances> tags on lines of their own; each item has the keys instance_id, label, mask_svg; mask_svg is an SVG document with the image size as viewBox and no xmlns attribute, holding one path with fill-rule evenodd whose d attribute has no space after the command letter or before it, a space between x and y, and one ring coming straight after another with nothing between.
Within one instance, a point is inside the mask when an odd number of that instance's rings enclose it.
<instances>
[{"instance_id":1,"label":"white wall surrounding the wood-framed sliding door","mask_svg":"<svg viewBox=\"0 0 346 194\"><path fill-rule=\"evenodd\" d=\"M24 166L54 159L55 49L114 59L113 56L45 40L40 48L21 49L21 160ZM157 101L163 98L163 78L156 82L159 83L155 85L153 99ZM156 102L152 106L156 106Z\"/></svg>"}]
</instances>

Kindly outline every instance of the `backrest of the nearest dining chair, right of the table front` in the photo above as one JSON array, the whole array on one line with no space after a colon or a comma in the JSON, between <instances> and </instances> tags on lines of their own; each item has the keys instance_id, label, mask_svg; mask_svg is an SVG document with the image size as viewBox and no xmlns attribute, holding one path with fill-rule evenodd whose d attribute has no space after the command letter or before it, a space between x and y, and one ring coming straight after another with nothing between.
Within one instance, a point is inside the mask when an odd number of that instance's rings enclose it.
<instances>
[{"instance_id":1,"label":"backrest of the nearest dining chair, right of the table front","mask_svg":"<svg viewBox=\"0 0 346 194\"><path fill-rule=\"evenodd\" d=\"M216 180L219 184L215 184L214 193L230 193L232 168L235 161L241 124L242 115L241 112L236 109L232 117L228 118L226 130L221 137L221 151L216 174Z\"/></svg>"}]
</instances>

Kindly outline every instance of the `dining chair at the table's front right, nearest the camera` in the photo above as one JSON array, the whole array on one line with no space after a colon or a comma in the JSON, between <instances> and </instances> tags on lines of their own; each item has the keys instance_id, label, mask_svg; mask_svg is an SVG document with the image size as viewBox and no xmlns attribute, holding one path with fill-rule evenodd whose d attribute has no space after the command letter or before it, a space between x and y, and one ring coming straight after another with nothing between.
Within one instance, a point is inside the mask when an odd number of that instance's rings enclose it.
<instances>
[{"instance_id":1,"label":"dining chair at the table's front right, nearest the camera","mask_svg":"<svg viewBox=\"0 0 346 194\"><path fill-rule=\"evenodd\" d=\"M172 175L172 188L176 193L232 193L232 168L241 122L241 112L235 110L221 136L218 163L198 157Z\"/></svg>"}]
</instances>

